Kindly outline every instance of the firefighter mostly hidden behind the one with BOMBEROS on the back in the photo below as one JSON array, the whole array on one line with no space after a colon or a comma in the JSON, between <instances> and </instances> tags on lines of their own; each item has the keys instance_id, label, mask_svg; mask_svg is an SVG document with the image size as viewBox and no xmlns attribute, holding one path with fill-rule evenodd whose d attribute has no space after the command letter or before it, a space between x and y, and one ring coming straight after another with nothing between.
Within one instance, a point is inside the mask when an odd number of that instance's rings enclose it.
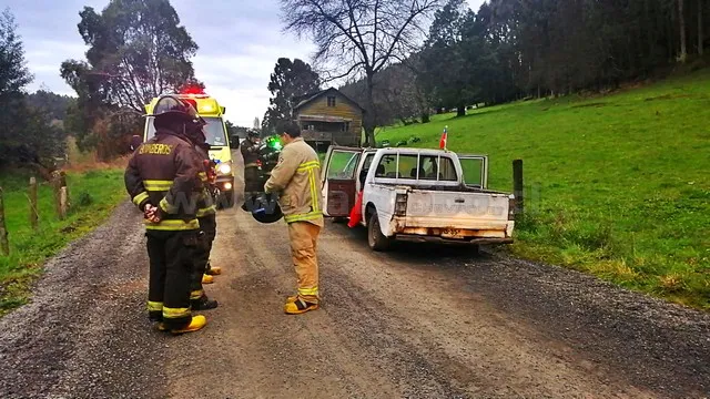
<instances>
[{"instance_id":1,"label":"firefighter mostly hidden behind the one with BOMBEROS on the back","mask_svg":"<svg viewBox=\"0 0 710 399\"><path fill-rule=\"evenodd\" d=\"M193 258L193 272L190 286L190 304L194 310L207 310L217 307L217 301L209 299L204 293L202 284L212 283L210 274L220 274L220 268L210 270L210 252L216 235L216 207L210 194L209 186L214 183L216 172L210 162L210 146L205 141L202 129L199 132L189 134L194 141L195 149L200 154L203 171L200 172L200 180L203 184L202 193L197 202L197 221L200 222L200 242Z\"/></svg>"}]
</instances>

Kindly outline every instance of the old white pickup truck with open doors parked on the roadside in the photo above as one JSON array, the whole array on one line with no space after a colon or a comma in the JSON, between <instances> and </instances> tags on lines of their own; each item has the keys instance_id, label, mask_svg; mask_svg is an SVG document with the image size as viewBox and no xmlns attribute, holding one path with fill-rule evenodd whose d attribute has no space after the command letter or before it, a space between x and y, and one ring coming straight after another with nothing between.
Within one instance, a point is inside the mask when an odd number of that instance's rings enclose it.
<instances>
[{"instance_id":1,"label":"old white pickup truck with open doors parked on the roadside","mask_svg":"<svg viewBox=\"0 0 710 399\"><path fill-rule=\"evenodd\" d=\"M349 217L362 191L359 224L374 250L393 239L513 243L515 198L487 188L486 155L331 146L324 165L324 214Z\"/></svg>"}]
</instances>

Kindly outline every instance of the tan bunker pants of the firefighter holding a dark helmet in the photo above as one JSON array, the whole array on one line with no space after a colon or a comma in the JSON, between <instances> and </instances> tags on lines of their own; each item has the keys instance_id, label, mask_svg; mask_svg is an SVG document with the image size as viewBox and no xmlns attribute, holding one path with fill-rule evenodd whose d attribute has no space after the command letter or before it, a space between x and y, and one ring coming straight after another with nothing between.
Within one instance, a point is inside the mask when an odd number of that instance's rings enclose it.
<instances>
[{"instance_id":1,"label":"tan bunker pants of the firefighter holding a dark helmet","mask_svg":"<svg viewBox=\"0 0 710 399\"><path fill-rule=\"evenodd\" d=\"M288 224L291 256L298 278L298 297L312 304L317 304L320 299L318 262L315 254L320 233L321 227L313 223Z\"/></svg>"}]
</instances>

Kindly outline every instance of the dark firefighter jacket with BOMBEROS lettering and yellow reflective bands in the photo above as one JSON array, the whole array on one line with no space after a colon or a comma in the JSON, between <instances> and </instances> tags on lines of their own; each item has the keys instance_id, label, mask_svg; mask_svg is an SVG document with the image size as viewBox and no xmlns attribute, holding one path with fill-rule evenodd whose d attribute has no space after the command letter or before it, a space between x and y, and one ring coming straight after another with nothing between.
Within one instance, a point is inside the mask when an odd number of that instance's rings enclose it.
<instances>
[{"instance_id":1,"label":"dark firefighter jacket with BOMBEROS lettering and yellow reflective bands","mask_svg":"<svg viewBox=\"0 0 710 399\"><path fill-rule=\"evenodd\" d=\"M146 222L146 228L199 228L197 198L202 192L199 173L202 171L192 143L166 130L158 130L153 139L135 150L125 168L125 188L141 211L150 203L163 212L163 222Z\"/></svg>"}]
</instances>

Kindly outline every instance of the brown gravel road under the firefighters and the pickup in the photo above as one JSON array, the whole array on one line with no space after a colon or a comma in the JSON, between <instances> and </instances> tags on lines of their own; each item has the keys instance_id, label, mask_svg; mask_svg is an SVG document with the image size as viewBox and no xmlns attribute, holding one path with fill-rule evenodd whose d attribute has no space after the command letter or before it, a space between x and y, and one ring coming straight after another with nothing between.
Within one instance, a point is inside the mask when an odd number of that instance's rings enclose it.
<instances>
[{"instance_id":1,"label":"brown gravel road under the firefighters and the pickup","mask_svg":"<svg viewBox=\"0 0 710 399\"><path fill-rule=\"evenodd\" d=\"M122 204L0 319L0 398L703 398L710 315L499 255L403 245L327 223L323 307L295 285L283 223L221 211L207 327L143 313L140 215Z\"/></svg>"}]
</instances>

